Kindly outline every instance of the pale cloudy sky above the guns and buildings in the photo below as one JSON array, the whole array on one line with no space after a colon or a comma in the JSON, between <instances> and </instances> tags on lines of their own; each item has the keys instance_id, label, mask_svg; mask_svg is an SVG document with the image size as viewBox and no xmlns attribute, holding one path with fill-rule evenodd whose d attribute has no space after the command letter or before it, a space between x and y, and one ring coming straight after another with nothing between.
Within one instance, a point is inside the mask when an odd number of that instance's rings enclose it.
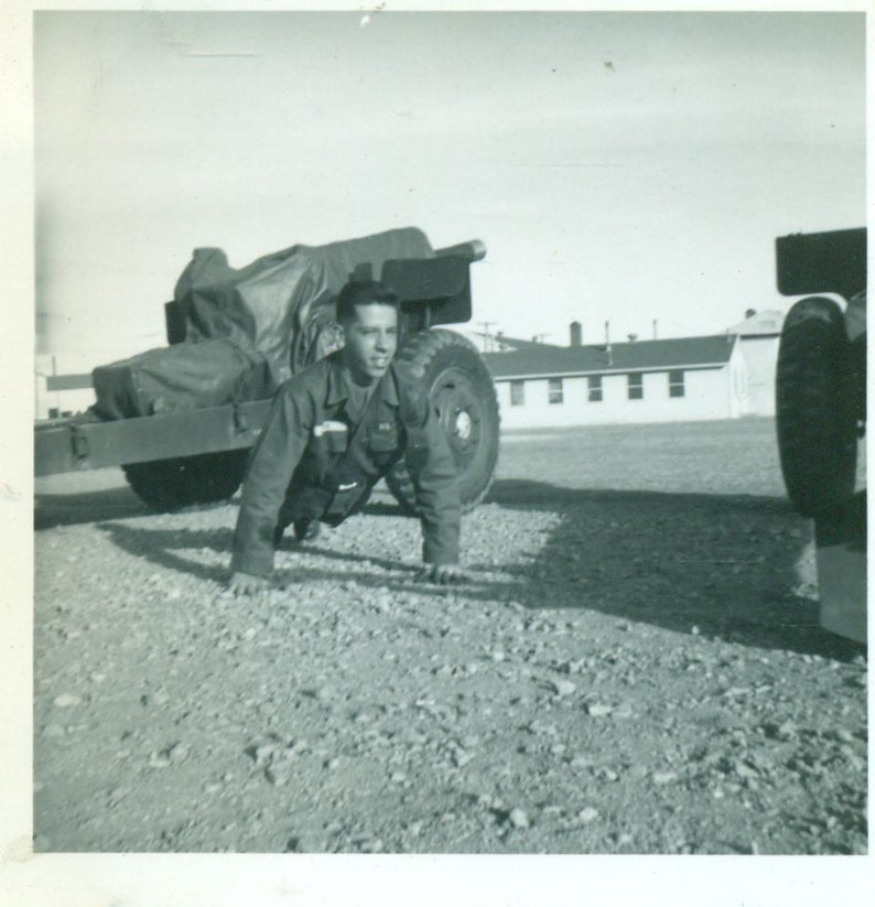
<instances>
[{"instance_id":1,"label":"pale cloudy sky above the guns and buildings","mask_svg":"<svg viewBox=\"0 0 875 907\"><path fill-rule=\"evenodd\" d=\"M789 307L776 236L865 224L862 13L361 20L36 14L39 352L164 345L195 247L407 225L486 242L472 327L717 333Z\"/></svg>"}]
</instances>

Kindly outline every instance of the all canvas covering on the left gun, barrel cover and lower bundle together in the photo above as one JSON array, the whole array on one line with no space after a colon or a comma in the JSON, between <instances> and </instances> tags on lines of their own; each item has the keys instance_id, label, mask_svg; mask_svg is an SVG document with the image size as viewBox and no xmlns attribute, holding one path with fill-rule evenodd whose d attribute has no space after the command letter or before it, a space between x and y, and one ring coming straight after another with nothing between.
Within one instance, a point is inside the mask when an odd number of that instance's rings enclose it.
<instances>
[{"instance_id":1,"label":"all canvas covering on the left gun, barrel cover and lower bundle together","mask_svg":"<svg viewBox=\"0 0 875 907\"><path fill-rule=\"evenodd\" d=\"M196 249L174 291L185 342L94 369L94 410L127 419L270 396L337 345L334 302L357 269L379 278L390 259L432 257L413 227L292 246L240 269L222 249Z\"/></svg>"}]
</instances>

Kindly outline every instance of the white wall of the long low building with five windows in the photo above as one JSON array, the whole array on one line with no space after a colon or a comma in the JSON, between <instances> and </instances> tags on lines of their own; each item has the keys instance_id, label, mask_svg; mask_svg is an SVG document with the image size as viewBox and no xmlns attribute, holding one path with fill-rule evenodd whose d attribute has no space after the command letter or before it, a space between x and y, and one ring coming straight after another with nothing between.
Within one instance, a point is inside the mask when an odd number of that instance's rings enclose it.
<instances>
[{"instance_id":1,"label":"white wall of the long low building with five windows","mask_svg":"<svg viewBox=\"0 0 875 907\"><path fill-rule=\"evenodd\" d=\"M684 396L669 396L668 371L644 374L644 398L629 400L626 374L602 378L602 402L590 402L585 377L564 378L563 402L550 403L548 380L526 380L525 406L510 406L510 381L496 381L505 429L563 428L646 422L733 419L745 412L744 363L684 369Z\"/></svg>"}]
</instances>

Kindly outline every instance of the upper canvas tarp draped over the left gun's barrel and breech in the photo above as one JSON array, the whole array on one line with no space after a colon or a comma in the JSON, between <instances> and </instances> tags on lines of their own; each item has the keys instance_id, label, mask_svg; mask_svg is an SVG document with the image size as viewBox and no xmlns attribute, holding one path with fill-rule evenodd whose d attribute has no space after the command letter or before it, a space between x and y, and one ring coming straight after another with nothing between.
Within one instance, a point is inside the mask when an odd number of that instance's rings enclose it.
<instances>
[{"instance_id":1,"label":"upper canvas tarp draped over the left gun's barrel and breech","mask_svg":"<svg viewBox=\"0 0 875 907\"><path fill-rule=\"evenodd\" d=\"M414 227L327 246L292 246L240 269L222 249L196 249L180 277L174 300L186 339L226 337L263 355L277 385L315 361L325 349L317 336L334 317L334 300L361 266L378 279L397 258L432 258Z\"/></svg>"}]
</instances>

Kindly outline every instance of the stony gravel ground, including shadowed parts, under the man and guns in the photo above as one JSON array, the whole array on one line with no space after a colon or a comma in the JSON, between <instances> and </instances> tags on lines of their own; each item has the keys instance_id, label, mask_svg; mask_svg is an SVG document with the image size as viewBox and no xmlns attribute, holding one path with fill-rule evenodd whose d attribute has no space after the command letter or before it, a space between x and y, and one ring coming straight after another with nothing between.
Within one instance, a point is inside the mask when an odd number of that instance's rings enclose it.
<instances>
[{"instance_id":1,"label":"stony gravel ground, including shadowed parts, under the man and guns","mask_svg":"<svg viewBox=\"0 0 875 907\"><path fill-rule=\"evenodd\" d=\"M236 503L119 475L37 482L37 852L866 852L770 421L508 435L450 591L378 490L236 601Z\"/></svg>"}]
</instances>

